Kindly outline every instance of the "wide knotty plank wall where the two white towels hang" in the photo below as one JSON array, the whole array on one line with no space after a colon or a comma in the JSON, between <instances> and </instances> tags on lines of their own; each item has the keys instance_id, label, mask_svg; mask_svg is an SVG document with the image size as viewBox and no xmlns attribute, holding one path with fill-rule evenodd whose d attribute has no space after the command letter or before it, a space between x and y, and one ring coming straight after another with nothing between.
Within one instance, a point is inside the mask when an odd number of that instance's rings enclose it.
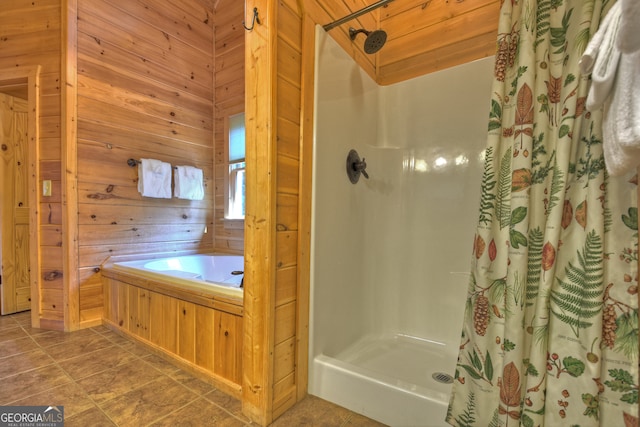
<instances>
[{"instance_id":1,"label":"wide knotty plank wall where the two white towels hang","mask_svg":"<svg viewBox=\"0 0 640 427\"><path fill-rule=\"evenodd\" d=\"M213 5L78 4L78 275L83 326L102 316L110 255L213 248ZM153 158L203 169L203 201L143 198ZM73 273L72 273L73 274Z\"/></svg>"}]
</instances>

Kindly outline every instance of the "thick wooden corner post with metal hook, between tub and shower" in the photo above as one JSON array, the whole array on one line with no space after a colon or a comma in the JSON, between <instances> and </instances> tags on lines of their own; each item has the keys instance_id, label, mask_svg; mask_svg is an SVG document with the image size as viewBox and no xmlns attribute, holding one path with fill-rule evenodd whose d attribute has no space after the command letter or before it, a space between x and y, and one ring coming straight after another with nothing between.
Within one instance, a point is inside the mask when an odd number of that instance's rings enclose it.
<instances>
[{"instance_id":1,"label":"thick wooden corner post with metal hook, between tub and shower","mask_svg":"<svg viewBox=\"0 0 640 427\"><path fill-rule=\"evenodd\" d=\"M246 211L242 410L273 419L276 259L276 40L278 2L247 0L245 26Z\"/></svg>"}]
</instances>

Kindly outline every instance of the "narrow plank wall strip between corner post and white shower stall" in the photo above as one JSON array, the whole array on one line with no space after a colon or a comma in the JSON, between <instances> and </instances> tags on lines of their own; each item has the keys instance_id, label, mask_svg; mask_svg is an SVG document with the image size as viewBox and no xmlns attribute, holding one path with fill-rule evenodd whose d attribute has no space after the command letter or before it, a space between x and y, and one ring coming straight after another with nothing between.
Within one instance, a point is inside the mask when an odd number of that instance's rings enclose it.
<instances>
[{"instance_id":1,"label":"narrow plank wall strip between corner post and white shower stall","mask_svg":"<svg viewBox=\"0 0 640 427\"><path fill-rule=\"evenodd\" d=\"M297 401L298 196L302 12L295 0L281 0L277 14L276 252L274 298L273 417ZM305 373L306 375L306 373ZM306 382L305 382L306 383Z\"/></svg>"}]
</instances>

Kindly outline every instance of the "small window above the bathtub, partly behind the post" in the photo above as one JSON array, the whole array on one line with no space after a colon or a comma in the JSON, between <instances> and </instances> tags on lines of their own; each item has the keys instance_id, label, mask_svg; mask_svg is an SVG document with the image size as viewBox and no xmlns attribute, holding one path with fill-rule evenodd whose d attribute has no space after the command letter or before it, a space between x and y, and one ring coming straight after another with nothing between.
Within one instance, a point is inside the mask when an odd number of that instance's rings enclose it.
<instances>
[{"instance_id":1,"label":"small window above the bathtub, partly behind the post","mask_svg":"<svg viewBox=\"0 0 640 427\"><path fill-rule=\"evenodd\" d=\"M228 118L228 165L226 219L244 219L245 200L245 139L244 113Z\"/></svg>"}]
</instances>

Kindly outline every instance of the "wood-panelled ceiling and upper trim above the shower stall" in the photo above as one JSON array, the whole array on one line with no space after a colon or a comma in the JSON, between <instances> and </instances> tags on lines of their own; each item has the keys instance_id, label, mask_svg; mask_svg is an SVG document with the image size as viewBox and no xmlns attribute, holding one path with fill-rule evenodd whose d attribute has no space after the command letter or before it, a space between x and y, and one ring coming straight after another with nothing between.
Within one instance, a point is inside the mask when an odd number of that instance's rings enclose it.
<instances>
[{"instance_id":1,"label":"wood-panelled ceiling and upper trim above the shower stall","mask_svg":"<svg viewBox=\"0 0 640 427\"><path fill-rule=\"evenodd\" d=\"M317 0L320 15L333 22L377 0ZM309 5L311 2L307 2ZM381 85L397 83L495 53L499 0L393 0L329 33ZM310 6L315 8L316 6ZM364 36L349 27L387 33L385 46L363 52Z\"/></svg>"}]
</instances>

